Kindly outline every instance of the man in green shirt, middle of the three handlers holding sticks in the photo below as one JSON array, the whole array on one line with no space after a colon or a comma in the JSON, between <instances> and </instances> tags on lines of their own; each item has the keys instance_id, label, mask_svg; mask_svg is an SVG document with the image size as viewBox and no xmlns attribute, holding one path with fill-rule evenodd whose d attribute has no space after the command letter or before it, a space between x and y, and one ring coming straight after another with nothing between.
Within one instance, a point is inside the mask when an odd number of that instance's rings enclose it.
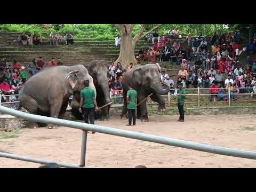
<instances>
[{"instance_id":1,"label":"man in green shirt, middle of the three handlers holding sticks","mask_svg":"<svg viewBox=\"0 0 256 192\"><path fill-rule=\"evenodd\" d=\"M131 85L128 86L129 91L127 91L126 102L129 124L127 126L132 126L136 124L135 109L137 105L137 91L133 90Z\"/></svg>"}]
</instances>

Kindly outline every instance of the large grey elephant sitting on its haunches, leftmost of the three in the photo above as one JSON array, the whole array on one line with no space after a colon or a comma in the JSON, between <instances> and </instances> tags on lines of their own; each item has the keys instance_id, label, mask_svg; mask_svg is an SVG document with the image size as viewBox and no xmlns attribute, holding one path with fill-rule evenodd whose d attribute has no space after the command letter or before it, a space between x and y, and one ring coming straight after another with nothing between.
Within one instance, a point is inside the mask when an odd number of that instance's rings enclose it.
<instances>
[{"instance_id":1,"label":"large grey elephant sitting on its haunches, leftmost of the three","mask_svg":"<svg viewBox=\"0 0 256 192\"><path fill-rule=\"evenodd\" d=\"M89 86L97 95L93 79L83 65L42 69L20 90L18 110L23 107L31 114L61 118L66 112L69 97L84 89L85 80L89 80ZM38 123L31 122L30 128L37 127ZM52 124L48 127L56 128Z\"/></svg>"}]
</instances>

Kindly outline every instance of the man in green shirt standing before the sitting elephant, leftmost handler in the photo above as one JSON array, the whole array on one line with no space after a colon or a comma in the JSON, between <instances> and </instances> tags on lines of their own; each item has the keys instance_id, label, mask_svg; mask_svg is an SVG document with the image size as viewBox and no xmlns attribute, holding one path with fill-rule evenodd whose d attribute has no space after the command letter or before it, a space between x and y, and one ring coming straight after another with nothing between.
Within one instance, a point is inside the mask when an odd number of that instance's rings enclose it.
<instances>
[{"instance_id":1,"label":"man in green shirt standing before the sitting elephant, leftmost handler","mask_svg":"<svg viewBox=\"0 0 256 192\"><path fill-rule=\"evenodd\" d=\"M84 86L85 88L81 91L79 111L83 112L85 123L89 123L90 119L90 124L94 125L94 110L98 110L94 90L89 87L88 80L84 81Z\"/></svg>"}]
</instances>

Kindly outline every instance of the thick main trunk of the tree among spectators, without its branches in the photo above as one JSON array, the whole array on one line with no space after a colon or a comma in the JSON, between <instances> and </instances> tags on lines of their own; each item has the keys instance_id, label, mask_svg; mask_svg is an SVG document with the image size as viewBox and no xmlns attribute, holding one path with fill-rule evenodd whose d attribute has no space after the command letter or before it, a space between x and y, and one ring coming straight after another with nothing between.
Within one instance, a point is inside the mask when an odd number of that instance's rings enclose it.
<instances>
[{"instance_id":1,"label":"thick main trunk of the tree among spectators, without its branches","mask_svg":"<svg viewBox=\"0 0 256 192\"><path fill-rule=\"evenodd\" d=\"M119 32L121 37L120 54L115 63L121 62L123 68L127 69L130 63L133 63L133 66L137 64L134 55L136 44L133 44L132 31L121 29Z\"/></svg>"}]
</instances>

